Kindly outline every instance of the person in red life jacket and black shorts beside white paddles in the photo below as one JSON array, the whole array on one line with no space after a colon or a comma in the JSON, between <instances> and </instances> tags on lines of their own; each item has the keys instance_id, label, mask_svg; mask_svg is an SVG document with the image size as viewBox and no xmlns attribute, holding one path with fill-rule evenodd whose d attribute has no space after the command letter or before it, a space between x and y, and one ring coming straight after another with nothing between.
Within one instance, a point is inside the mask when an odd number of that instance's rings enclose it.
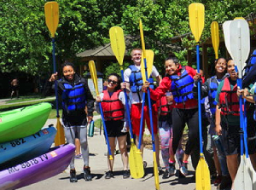
<instances>
[{"instance_id":1,"label":"person in red life jacket and black shorts beside white paddles","mask_svg":"<svg viewBox=\"0 0 256 190\"><path fill-rule=\"evenodd\" d=\"M227 159L228 170L232 183L234 183L238 170L238 153L240 153L240 109L237 91L237 72L234 60L229 60L227 72L230 77L224 78L218 84L217 102L215 113L215 130L220 135L220 140L224 145L224 153ZM232 189L233 189L232 184Z\"/></svg>"}]
</instances>

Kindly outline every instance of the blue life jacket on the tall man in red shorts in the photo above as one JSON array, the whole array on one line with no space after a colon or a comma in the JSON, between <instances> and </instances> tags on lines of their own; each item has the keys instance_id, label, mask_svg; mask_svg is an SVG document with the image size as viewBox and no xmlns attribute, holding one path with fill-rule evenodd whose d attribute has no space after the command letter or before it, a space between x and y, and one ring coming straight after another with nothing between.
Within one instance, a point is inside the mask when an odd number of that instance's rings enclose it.
<instances>
[{"instance_id":1,"label":"blue life jacket on the tall man in red shorts","mask_svg":"<svg viewBox=\"0 0 256 190\"><path fill-rule=\"evenodd\" d=\"M137 67L132 65L129 66L131 69L130 88L132 93L139 93L143 87L143 76L141 70L137 70ZM154 79L150 76L148 78L149 87L154 89Z\"/></svg>"}]
</instances>

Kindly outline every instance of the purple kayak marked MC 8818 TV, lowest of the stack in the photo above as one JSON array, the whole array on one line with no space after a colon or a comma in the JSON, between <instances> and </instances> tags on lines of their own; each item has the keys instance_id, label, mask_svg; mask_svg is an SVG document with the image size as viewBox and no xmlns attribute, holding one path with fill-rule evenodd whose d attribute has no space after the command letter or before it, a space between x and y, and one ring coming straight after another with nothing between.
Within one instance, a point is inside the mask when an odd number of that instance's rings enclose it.
<instances>
[{"instance_id":1,"label":"purple kayak marked MC 8818 TV, lowest of the stack","mask_svg":"<svg viewBox=\"0 0 256 190\"><path fill-rule=\"evenodd\" d=\"M49 153L0 172L0 189L9 190L43 181L67 169L73 157L73 144L55 147Z\"/></svg>"}]
</instances>

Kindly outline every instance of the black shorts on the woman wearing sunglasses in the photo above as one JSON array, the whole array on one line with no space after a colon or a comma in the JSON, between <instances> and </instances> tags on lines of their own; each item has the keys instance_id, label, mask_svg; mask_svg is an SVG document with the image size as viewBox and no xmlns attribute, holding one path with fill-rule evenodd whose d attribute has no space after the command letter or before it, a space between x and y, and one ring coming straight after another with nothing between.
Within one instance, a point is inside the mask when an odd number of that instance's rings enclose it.
<instances>
[{"instance_id":1,"label":"black shorts on the woman wearing sunglasses","mask_svg":"<svg viewBox=\"0 0 256 190\"><path fill-rule=\"evenodd\" d=\"M124 121L121 120L111 120L105 121L108 137L119 137L122 135L127 135L127 132L123 133ZM105 135L105 133L104 133Z\"/></svg>"}]
</instances>

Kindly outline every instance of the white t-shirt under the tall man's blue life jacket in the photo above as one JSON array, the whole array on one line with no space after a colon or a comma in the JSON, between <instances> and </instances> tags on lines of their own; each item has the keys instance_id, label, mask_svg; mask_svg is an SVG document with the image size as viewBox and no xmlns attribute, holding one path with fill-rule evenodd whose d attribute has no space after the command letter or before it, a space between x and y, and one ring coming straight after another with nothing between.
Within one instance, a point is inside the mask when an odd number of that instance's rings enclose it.
<instances>
[{"instance_id":1,"label":"white t-shirt under the tall man's blue life jacket","mask_svg":"<svg viewBox=\"0 0 256 190\"><path fill-rule=\"evenodd\" d=\"M136 66L136 67L137 67L137 70L141 70L141 66ZM124 73L125 82L130 83L130 76L131 76L131 69L130 68L125 69L125 73ZM153 66L151 77L156 78L158 76L159 76L159 72L156 70L155 66ZM140 91L139 95L141 97L141 101L137 93L130 92L131 104L137 104L137 103L143 102L143 91Z\"/></svg>"}]
</instances>

